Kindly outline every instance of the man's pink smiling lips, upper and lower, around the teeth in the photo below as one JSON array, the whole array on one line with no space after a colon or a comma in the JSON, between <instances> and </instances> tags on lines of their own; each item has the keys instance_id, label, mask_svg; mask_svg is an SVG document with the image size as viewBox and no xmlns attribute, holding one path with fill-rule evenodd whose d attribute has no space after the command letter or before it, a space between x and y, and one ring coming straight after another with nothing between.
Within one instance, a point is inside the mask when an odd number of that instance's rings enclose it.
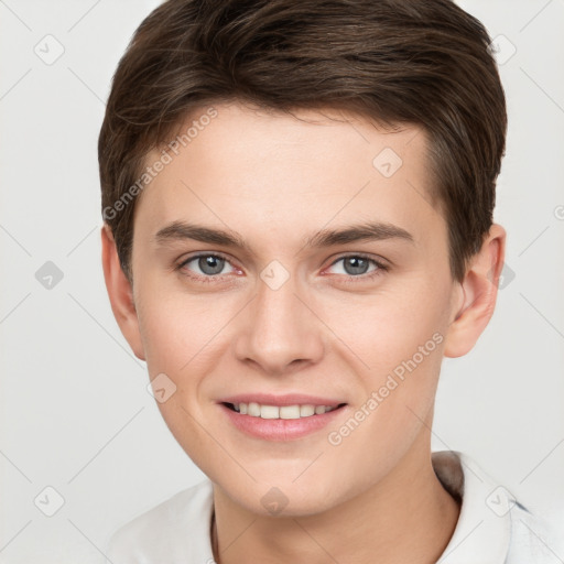
<instances>
[{"instance_id":1,"label":"man's pink smiling lips, upper and lower, around the teeth","mask_svg":"<svg viewBox=\"0 0 564 564\"><path fill-rule=\"evenodd\" d=\"M330 411L325 413L314 413L300 419L263 419L262 416L252 416L235 411L235 406L241 403L259 404L261 406L291 406L291 405L324 405ZM221 399L218 402L220 410L226 414L229 421L243 433L265 441L292 441L302 438L326 426L330 421L341 412L346 403L328 398L313 397L305 394L239 394ZM272 410L269 410L272 411ZM311 410L310 410L311 411ZM317 410L319 411L319 410ZM275 411L274 411L275 413Z\"/></svg>"}]
</instances>

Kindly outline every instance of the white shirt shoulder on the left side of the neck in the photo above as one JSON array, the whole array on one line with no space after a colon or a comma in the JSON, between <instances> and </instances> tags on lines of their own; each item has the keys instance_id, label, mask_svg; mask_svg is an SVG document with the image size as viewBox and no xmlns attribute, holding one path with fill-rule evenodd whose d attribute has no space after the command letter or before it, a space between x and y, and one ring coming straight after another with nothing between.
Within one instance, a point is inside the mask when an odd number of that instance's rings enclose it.
<instances>
[{"instance_id":1,"label":"white shirt shoulder on the left side of the neck","mask_svg":"<svg viewBox=\"0 0 564 564\"><path fill-rule=\"evenodd\" d=\"M212 558L212 510L209 480L182 490L119 528L108 544L108 562L204 564Z\"/></svg>"}]
</instances>

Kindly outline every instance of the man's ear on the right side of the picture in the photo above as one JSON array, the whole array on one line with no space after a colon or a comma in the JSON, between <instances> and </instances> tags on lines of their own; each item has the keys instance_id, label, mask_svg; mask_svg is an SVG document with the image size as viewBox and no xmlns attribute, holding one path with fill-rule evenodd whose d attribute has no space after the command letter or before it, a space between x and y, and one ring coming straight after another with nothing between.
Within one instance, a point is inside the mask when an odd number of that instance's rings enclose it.
<instances>
[{"instance_id":1,"label":"man's ear on the right side of the picture","mask_svg":"<svg viewBox=\"0 0 564 564\"><path fill-rule=\"evenodd\" d=\"M494 224L460 284L463 299L448 326L444 356L455 358L466 355L488 325L496 307L505 257L506 230Z\"/></svg>"}]
</instances>

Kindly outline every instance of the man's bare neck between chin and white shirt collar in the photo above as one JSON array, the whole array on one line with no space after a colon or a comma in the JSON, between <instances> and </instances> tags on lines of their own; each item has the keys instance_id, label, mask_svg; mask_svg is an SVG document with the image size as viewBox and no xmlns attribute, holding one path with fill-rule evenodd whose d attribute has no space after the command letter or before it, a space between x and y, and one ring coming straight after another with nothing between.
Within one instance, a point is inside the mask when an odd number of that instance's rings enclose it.
<instances>
[{"instance_id":1,"label":"man's bare neck between chin and white shirt collar","mask_svg":"<svg viewBox=\"0 0 564 564\"><path fill-rule=\"evenodd\" d=\"M426 438L383 480L323 513L257 516L215 485L216 562L369 564L375 556L380 564L436 562L456 528L459 506L435 475Z\"/></svg>"}]
</instances>

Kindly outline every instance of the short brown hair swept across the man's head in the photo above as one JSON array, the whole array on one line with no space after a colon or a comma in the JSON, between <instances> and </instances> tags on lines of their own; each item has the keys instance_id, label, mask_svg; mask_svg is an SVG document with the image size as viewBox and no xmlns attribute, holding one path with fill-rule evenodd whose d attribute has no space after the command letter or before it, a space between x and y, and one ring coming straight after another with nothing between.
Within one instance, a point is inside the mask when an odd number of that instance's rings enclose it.
<instances>
[{"instance_id":1,"label":"short brown hair swept across the man's head","mask_svg":"<svg viewBox=\"0 0 564 564\"><path fill-rule=\"evenodd\" d=\"M489 44L484 25L451 0L165 1L119 62L98 141L102 216L123 272L132 280L128 197L139 193L149 151L196 108L241 100L421 126L452 275L462 281L492 224L506 144Z\"/></svg>"}]
</instances>

